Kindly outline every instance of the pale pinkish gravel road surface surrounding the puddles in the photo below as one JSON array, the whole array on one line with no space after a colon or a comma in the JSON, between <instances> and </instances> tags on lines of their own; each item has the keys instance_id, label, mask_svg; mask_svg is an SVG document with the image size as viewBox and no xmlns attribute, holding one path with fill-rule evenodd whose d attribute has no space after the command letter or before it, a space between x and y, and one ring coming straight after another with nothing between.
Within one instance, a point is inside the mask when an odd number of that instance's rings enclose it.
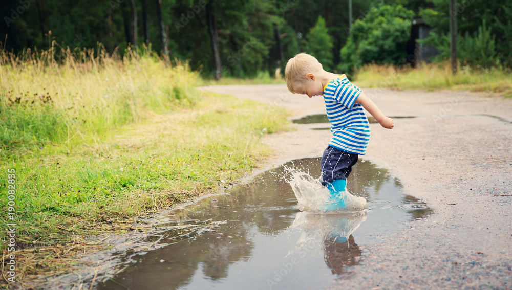
<instances>
[{"instance_id":1,"label":"pale pinkish gravel road surface surrounding the puddles","mask_svg":"<svg viewBox=\"0 0 512 290\"><path fill-rule=\"evenodd\" d=\"M285 85L212 86L289 108L293 118L325 114L322 97L292 95ZM332 288L512 288L512 99L468 92L367 89L395 128L371 124L362 157L387 168L404 193L434 209L428 218L364 250L352 275ZM275 150L262 170L321 157L329 130L268 135ZM286 145L286 146L285 146Z\"/></svg>"}]
</instances>

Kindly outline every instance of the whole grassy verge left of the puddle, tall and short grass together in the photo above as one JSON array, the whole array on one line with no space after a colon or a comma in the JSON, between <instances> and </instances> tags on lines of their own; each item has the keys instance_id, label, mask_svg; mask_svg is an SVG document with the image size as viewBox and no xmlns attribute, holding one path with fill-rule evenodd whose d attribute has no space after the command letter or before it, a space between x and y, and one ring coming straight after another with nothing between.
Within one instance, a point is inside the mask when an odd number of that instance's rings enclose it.
<instances>
[{"instance_id":1,"label":"whole grassy verge left of the puddle, tall and short grass together","mask_svg":"<svg viewBox=\"0 0 512 290\"><path fill-rule=\"evenodd\" d=\"M235 182L270 153L263 132L286 129L280 108L198 91L186 64L60 53L63 63L51 51L0 63L0 223L13 222L14 168L17 281L65 270L98 247L91 237Z\"/></svg>"}]
</instances>

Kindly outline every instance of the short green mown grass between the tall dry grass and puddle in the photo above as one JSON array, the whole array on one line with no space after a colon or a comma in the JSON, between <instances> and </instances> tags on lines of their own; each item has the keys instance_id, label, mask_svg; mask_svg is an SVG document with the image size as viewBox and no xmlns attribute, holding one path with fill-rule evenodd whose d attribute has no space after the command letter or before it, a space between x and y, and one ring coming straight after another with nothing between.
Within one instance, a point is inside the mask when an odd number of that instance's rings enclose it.
<instances>
[{"instance_id":1,"label":"short green mown grass between the tall dry grass and puddle","mask_svg":"<svg viewBox=\"0 0 512 290\"><path fill-rule=\"evenodd\" d=\"M260 132L283 129L286 115L269 112L251 101L205 96L195 108L125 125L111 138L8 160L2 171L16 169L19 240L46 243L67 240L70 233L96 234L91 224L218 191L270 153L259 142ZM5 206L5 187L1 198Z\"/></svg>"}]
</instances>

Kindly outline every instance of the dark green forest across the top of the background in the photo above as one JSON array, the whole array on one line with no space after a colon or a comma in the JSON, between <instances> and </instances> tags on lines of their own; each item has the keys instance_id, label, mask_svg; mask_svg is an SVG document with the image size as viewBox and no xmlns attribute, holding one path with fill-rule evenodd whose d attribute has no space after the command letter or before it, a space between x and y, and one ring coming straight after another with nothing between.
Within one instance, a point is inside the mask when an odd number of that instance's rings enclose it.
<instances>
[{"instance_id":1,"label":"dark green forest across the top of the background","mask_svg":"<svg viewBox=\"0 0 512 290\"><path fill-rule=\"evenodd\" d=\"M145 44L203 77L246 78L282 71L302 51L338 73L366 63L415 64L420 41L411 24L422 18L433 32L421 43L439 50L434 61L448 57L448 1L351 2L352 26L349 1L338 0L8 0L0 36L4 50L25 55L53 41L121 56ZM461 64L510 68L512 3L463 0L456 13Z\"/></svg>"}]
</instances>

